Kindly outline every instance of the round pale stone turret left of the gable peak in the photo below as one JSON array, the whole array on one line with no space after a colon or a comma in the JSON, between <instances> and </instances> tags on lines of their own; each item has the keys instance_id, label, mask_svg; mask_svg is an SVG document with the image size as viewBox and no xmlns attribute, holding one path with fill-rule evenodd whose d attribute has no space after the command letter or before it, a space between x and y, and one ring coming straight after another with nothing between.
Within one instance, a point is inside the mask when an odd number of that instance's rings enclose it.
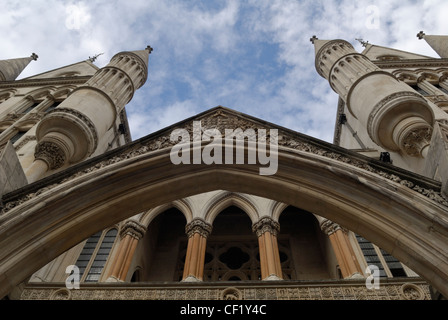
<instances>
[{"instance_id":1,"label":"round pale stone turret left of the gable peak","mask_svg":"<svg viewBox=\"0 0 448 320\"><path fill-rule=\"evenodd\" d=\"M151 51L148 46L116 54L40 121L35 161L27 171L30 182L47 170L80 162L95 152L98 140L146 82Z\"/></svg>"}]
</instances>

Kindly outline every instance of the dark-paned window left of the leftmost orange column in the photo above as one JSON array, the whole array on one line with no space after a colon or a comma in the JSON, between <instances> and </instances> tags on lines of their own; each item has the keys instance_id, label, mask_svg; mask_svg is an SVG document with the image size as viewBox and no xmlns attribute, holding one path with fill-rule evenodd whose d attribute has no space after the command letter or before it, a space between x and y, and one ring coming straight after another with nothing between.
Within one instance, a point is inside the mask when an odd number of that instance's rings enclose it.
<instances>
[{"instance_id":1,"label":"dark-paned window left of the leftmost orange column","mask_svg":"<svg viewBox=\"0 0 448 320\"><path fill-rule=\"evenodd\" d=\"M117 229L110 229L97 232L87 240L76 261L81 281L98 282L116 236Z\"/></svg>"}]
</instances>

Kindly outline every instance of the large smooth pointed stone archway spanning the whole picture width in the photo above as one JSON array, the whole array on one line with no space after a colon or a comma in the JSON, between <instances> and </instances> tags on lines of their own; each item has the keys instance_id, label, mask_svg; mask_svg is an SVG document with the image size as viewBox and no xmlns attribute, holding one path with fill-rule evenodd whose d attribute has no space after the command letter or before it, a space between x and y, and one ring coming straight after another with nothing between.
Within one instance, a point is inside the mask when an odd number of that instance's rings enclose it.
<instances>
[{"instance_id":1,"label":"large smooth pointed stone archway spanning the whole picture width","mask_svg":"<svg viewBox=\"0 0 448 320\"><path fill-rule=\"evenodd\" d=\"M434 201L437 190L411 188L409 180L399 178L403 172L366 170L354 161L283 147L272 176L259 175L255 165L173 165L169 148L120 152L113 161L110 155L91 161L69 178L53 177L6 199L0 217L1 296L98 230L218 189L267 197L337 222L448 295L446 204Z\"/></svg>"}]
</instances>

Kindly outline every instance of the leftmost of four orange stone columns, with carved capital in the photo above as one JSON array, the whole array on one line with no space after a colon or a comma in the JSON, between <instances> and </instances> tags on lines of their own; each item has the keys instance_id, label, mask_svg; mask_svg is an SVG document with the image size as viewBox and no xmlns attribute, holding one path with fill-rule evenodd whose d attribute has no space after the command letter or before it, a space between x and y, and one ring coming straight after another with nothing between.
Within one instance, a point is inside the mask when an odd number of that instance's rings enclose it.
<instances>
[{"instance_id":1,"label":"leftmost of four orange stone columns, with carved capital","mask_svg":"<svg viewBox=\"0 0 448 320\"><path fill-rule=\"evenodd\" d=\"M120 243L112 261L108 282L125 281L134 257L138 241L143 238L146 227L134 220L128 220L120 231Z\"/></svg>"}]
</instances>

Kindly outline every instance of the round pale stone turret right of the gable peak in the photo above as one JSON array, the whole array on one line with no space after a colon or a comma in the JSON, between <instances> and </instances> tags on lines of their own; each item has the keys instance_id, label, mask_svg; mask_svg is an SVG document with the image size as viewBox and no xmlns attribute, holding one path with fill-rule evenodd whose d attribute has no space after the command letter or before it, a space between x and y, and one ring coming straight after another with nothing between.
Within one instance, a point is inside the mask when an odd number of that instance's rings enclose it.
<instances>
[{"instance_id":1,"label":"round pale stone turret right of the gable peak","mask_svg":"<svg viewBox=\"0 0 448 320\"><path fill-rule=\"evenodd\" d=\"M311 41L317 72L329 81L370 138L386 150L424 157L434 121L428 102L347 41L316 37Z\"/></svg>"}]
</instances>

